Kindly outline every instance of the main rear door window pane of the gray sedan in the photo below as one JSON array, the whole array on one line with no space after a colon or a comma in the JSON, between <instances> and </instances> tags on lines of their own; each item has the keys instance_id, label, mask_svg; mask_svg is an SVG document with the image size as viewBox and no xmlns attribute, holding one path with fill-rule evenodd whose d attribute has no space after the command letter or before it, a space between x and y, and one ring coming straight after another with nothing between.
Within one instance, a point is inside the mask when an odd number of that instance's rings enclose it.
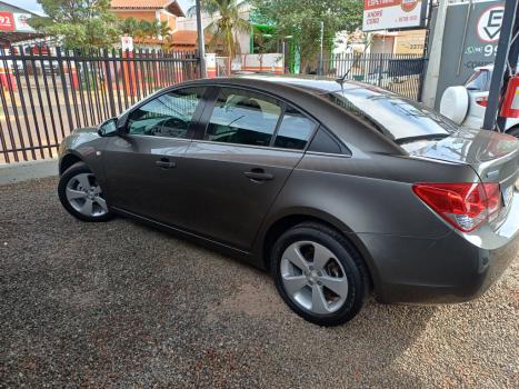
<instances>
[{"instance_id":1,"label":"main rear door window pane of the gray sedan","mask_svg":"<svg viewBox=\"0 0 519 389\"><path fill-rule=\"evenodd\" d=\"M203 139L269 146L280 116L281 107L270 97L222 88L214 102Z\"/></svg>"}]
</instances>

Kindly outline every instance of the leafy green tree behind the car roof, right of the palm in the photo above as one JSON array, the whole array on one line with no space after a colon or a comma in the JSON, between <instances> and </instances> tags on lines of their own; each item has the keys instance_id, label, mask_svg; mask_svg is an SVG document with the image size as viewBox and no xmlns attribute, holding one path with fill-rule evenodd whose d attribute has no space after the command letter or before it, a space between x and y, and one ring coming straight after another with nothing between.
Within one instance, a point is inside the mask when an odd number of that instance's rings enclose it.
<instances>
[{"instance_id":1,"label":"leafy green tree behind the car roof, right of the palm","mask_svg":"<svg viewBox=\"0 0 519 389\"><path fill-rule=\"evenodd\" d=\"M338 31L355 31L362 26L360 0L251 0L252 20L276 27L279 40L290 37L299 49L301 69L317 68L321 21L325 49L332 47Z\"/></svg>"}]
</instances>

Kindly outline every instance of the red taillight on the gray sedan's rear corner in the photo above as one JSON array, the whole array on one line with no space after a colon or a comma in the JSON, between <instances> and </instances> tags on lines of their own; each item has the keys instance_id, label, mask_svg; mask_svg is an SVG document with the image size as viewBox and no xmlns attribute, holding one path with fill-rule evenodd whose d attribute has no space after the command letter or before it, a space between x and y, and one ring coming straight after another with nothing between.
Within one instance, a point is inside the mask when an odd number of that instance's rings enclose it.
<instances>
[{"instance_id":1,"label":"red taillight on the gray sedan's rear corner","mask_svg":"<svg viewBox=\"0 0 519 389\"><path fill-rule=\"evenodd\" d=\"M499 210L499 183L415 183L413 192L447 222L463 232L472 231Z\"/></svg>"}]
</instances>

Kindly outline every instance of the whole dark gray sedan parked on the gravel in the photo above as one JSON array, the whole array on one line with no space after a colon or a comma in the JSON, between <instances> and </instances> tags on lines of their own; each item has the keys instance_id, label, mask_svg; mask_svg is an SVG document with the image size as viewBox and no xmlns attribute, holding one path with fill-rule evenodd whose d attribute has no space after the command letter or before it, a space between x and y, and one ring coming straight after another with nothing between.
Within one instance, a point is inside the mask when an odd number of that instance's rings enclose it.
<instances>
[{"instance_id":1,"label":"whole dark gray sedan parked on the gravel","mask_svg":"<svg viewBox=\"0 0 519 389\"><path fill-rule=\"evenodd\" d=\"M483 292L519 246L519 141L358 82L249 76L161 90L60 148L84 221L136 218L267 269L322 326ZM123 259L121 259L123 260Z\"/></svg>"}]
</instances>

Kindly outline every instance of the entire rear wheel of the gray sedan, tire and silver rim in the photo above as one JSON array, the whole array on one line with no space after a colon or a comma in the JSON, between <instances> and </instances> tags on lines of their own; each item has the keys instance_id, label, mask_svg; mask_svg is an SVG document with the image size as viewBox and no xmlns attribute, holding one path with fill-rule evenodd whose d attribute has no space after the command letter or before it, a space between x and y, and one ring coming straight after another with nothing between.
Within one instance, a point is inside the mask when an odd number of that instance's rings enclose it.
<instances>
[{"instance_id":1,"label":"entire rear wheel of the gray sedan, tire and silver rim","mask_svg":"<svg viewBox=\"0 0 519 389\"><path fill-rule=\"evenodd\" d=\"M362 308L369 281L363 262L337 231L298 225L272 249L276 287L299 316L320 326L351 320Z\"/></svg>"}]
</instances>

